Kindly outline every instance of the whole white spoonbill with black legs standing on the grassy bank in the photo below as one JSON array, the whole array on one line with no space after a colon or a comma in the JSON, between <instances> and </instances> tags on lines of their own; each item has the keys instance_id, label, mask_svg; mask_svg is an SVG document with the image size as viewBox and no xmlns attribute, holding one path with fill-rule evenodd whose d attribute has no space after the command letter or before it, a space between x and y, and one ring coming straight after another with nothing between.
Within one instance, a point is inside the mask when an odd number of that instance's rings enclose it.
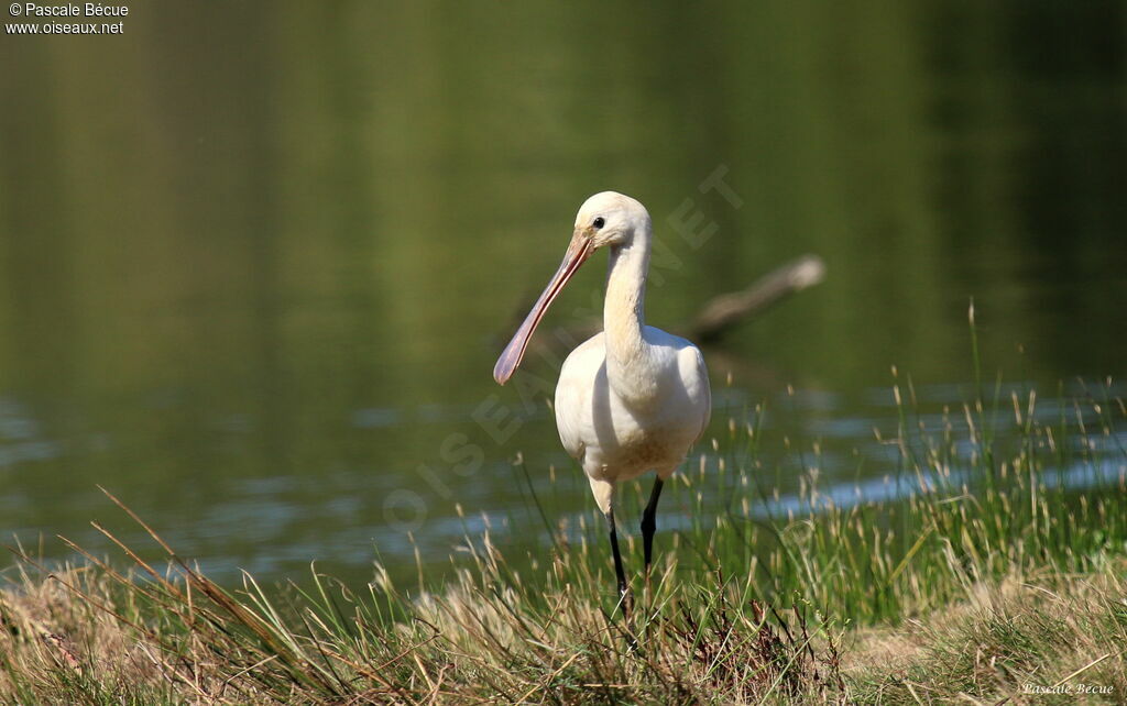
<instances>
[{"instance_id":1,"label":"whole white spoonbill with black legs standing on the grassy bank","mask_svg":"<svg viewBox=\"0 0 1127 706\"><path fill-rule=\"evenodd\" d=\"M583 465L595 502L606 516L623 606L628 586L614 529L615 485L657 472L641 520L648 575L662 485L704 432L711 413L701 351L645 323L653 239L649 213L636 199L614 191L588 198L576 216L564 262L494 367L494 378L504 385L564 285L595 250L610 248L603 332L564 361L556 385L556 427L564 448Z\"/></svg>"}]
</instances>

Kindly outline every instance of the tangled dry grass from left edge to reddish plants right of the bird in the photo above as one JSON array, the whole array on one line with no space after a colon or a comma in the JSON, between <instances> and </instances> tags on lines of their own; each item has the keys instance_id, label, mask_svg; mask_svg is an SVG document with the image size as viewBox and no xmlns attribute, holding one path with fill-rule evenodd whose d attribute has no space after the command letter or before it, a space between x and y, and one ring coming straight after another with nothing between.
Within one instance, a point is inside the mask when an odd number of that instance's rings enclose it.
<instances>
[{"instance_id":1,"label":"tangled dry grass from left edge to reddish plants right of the bird","mask_svg":"<svg viewBox=\"0 0 1127 706\"><path fill-rule=\"evenodd\" d=\"M532 602L499 557L410 601L323 580L277 607L248 578L227 593L108 566L21 570L0 593L0 696L16 703L837 701L836 640L804 610L655 588L629 620L583 587ZM27 564L21 564L27 569ZM567 571L559 566L558 571ZM817 651L815 650L817 645Z\"/></svg>"}]
</instances>

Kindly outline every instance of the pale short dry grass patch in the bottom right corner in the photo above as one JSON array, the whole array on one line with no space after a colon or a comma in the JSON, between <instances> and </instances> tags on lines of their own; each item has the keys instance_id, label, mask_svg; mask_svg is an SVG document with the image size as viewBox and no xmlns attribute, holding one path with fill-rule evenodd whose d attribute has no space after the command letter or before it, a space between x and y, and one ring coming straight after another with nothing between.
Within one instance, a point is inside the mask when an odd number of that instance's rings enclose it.
<instances>
[{"instance_id":1,"label":"pale short dry grass patch in the bottom right corner","mask_svg":"<svg viewBox=\"0 0 1127 706\"><path fill-rule=\"evenodd\" d=\"M860 634L843 667L859 701L1121 704L1127 562L1085 577L1010 577L895 631Z\"/></svg>"}]
</instances>

